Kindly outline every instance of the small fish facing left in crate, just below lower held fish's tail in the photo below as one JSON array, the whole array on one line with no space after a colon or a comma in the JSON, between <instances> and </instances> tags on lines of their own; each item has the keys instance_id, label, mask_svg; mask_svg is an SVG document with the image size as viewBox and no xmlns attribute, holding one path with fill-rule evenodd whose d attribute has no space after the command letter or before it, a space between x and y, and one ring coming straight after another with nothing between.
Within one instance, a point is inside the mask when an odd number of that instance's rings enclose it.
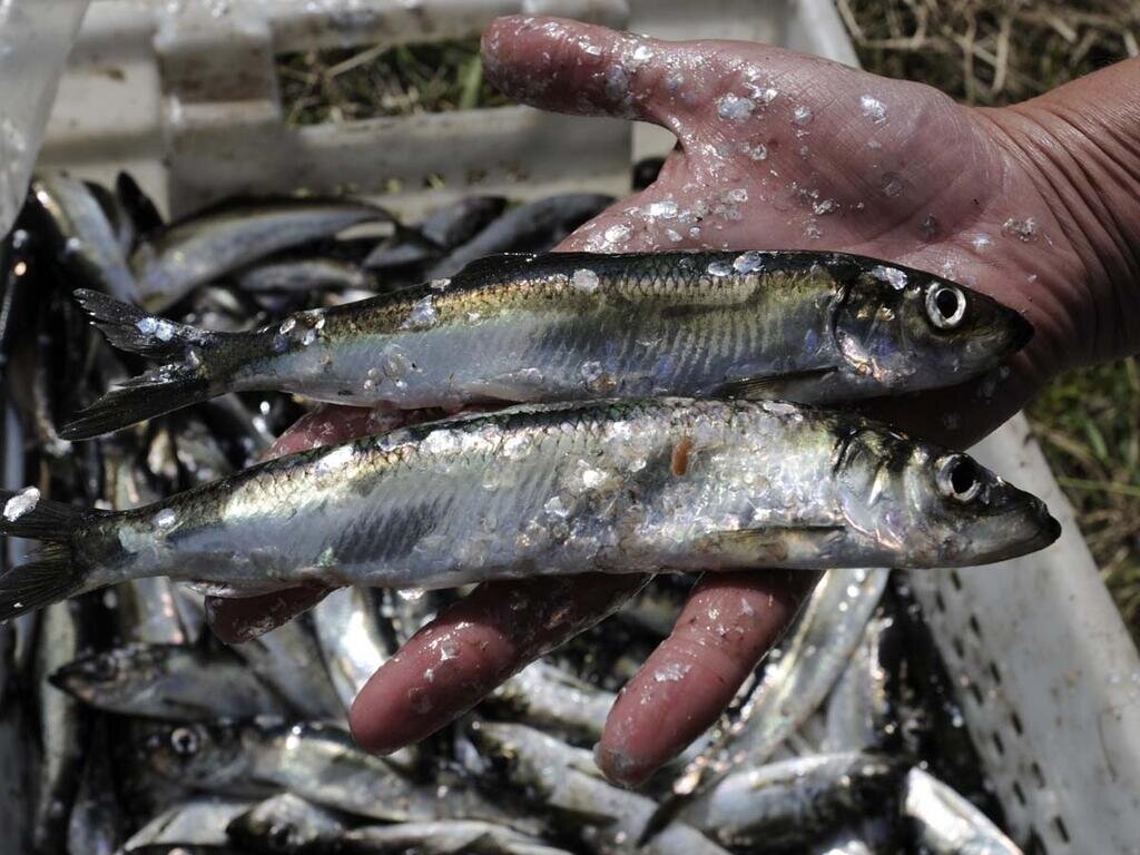
<instances>
[{"instance_id":1,"label":"small fish facing left in crate, just below lower held fish's tail","mask_svg":"<svg viewBox=\"0 0 1140 855\"><path fill-rule=\"evenodd\" d=\"M283 715L284 703L239 659L173 644L129 644L76 659L51 684L108 712L172 722Z\"/></svg>"}]
</instances>

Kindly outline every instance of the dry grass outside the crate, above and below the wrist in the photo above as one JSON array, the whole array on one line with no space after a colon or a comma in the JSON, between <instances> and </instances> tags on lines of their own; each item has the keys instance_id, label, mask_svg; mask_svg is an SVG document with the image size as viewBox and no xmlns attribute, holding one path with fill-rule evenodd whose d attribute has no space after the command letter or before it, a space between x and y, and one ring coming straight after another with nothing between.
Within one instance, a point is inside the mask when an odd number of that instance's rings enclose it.
<instances>
[{"instance_id":1,"label":"dry grass outside the crate, above and below the wrist","mask_svg":"<svg viewBox=\"0 0 1140 855\"><path fill-rule=\"evenodd\" d=\"M1137 56L1140 2L837 0L864 67L971 104L1023 100ZM1060 377L1029 421L1140 642L1140 366Z\"/></svg>"}]
</instances>

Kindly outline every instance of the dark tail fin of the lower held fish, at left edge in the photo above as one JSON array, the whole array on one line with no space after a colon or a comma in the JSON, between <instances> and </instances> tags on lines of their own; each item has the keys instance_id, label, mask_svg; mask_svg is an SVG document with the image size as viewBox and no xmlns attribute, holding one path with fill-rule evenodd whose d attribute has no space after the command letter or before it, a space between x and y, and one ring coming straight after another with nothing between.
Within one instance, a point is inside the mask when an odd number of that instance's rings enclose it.
<instances>
[{"instance_id":1,"label":"dark tail fin of the lower held fish, at left edge","mask_svg":"<svg viewBox=\"0 0 1140 855\"><path fill-rule=\"evenodd\" d=\"M14 506L21 494L0 490L0 534L43 540L33 561L0 576L0 622L51 605L83 588L84 570L75 561L75 534L104 511L38 499Z\"/></svg>"}]
</instances>

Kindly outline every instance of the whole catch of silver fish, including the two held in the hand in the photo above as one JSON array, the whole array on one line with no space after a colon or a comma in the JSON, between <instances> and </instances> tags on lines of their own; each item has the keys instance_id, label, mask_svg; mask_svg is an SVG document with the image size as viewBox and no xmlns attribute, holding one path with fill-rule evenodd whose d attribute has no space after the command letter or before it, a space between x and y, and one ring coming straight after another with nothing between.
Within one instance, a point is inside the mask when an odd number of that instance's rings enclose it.
<instances>
[{"instance_id":1,"label":"whole catch of silver fish, including the two held in the hand","mask_svg":"<svg viewBox=\"0 0 1140 855\"><path fill-rule=\"evenodd\" d=\"M234 201L168 225L127 176L36 178L0 249L6 839L1018 852L904 572L864 568L997 561L1057 523L967 455L815 405L961 383L1032 329L853 255L544 254L611 201L480 196L415 225ZM440 418L259 463L303 401ZM422 744L377 757L347 731L454 588L757 565L828 572L720 726L643 791L589 747L679 575ZM314 581L339 589L259 638L203 629L202 592Z\"/></svg>"}]
</instances>

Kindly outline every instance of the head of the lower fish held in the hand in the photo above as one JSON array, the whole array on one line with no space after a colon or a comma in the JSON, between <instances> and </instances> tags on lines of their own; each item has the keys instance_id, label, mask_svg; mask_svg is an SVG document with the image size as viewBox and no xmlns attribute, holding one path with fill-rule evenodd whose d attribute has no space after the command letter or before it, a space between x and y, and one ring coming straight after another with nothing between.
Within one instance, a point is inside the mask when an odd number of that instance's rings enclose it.
<instances>
[{"instance_id":1,"label":"head of the lower fish held in the hand","mask_svg":"<svg viewBox=\"0 0 1140 855\"><path fill-rule=\"evenodd\" d=\"M846 528L868 563L967 567L1025 555L1060 535L1044 503L972 457L886 430L840 435Z\"/></svg>"}]
</instances>

